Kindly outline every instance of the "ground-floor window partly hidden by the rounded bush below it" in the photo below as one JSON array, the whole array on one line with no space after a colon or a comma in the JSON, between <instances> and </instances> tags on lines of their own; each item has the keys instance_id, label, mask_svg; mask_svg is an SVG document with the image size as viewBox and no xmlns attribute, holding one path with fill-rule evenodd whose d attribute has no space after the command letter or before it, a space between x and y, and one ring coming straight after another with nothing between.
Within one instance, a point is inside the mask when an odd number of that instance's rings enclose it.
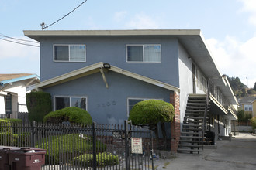
<instances>
[{"instance_id":1,"label":"ground-floor window partly hidden by the rounded bush below it","mask_svg":"<svg viewBox=\"0 0 256 170\"><path fill-rule=\"evenodd\" d=\"M79 107L86 110L86 97L55 97L55 110L64 107Z\"/></svg>"}]
</instances>

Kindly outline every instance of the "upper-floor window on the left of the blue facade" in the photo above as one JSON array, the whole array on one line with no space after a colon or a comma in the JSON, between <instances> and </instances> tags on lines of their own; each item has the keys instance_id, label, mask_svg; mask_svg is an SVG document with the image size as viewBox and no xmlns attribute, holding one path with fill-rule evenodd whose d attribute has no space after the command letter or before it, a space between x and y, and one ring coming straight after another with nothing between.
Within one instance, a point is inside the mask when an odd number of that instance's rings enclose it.
<instances>
[{"instance_id":1,"label":"upper-floor window on the left of the blue facade","mask_svg":"<svg viewBox=\"0 0 256 170\"><path fill-rule=\"evenodd\" d=\"M85 45L54 45L54 61L85 62Z\"/></svg>"}]
</instances>

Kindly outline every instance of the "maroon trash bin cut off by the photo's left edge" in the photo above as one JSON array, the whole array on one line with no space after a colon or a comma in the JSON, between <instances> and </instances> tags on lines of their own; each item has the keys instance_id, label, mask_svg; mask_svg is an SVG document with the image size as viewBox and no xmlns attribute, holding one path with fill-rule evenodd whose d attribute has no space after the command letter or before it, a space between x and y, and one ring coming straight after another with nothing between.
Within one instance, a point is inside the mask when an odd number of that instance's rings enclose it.
<instances>
[{"instance_id":1,"label":"maroon trash bin cut off by the photo's left edge","mask_svg":"<svg viewBox=\"0 0 256 170\"><path fill-rule=\"evenodd\" d=\"M9 151L17 150L17 147L0 146L0 170L10 170L9 165Z\"/></svg>"}]
</instances>

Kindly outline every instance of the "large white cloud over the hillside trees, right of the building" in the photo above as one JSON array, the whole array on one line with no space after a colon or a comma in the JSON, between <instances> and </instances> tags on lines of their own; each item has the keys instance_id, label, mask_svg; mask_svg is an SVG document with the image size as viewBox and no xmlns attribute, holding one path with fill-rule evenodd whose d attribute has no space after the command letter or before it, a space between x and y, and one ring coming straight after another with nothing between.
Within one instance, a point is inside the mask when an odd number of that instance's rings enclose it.
<instances>
[{"instance_id":1,"label":"large white cloud over the hillside trees, right of the building","mask_svg":"<svg viewBox=\"0 0 256 170\"><path fill-rule=\"evenodd\" d=\"M247 42L239 42L230 36L227 36L223 42L216 39L207 39L206 41L221 73L238 76L245 85L254 87L256 82L256 37Z\"/></svg>"}]
</instances>

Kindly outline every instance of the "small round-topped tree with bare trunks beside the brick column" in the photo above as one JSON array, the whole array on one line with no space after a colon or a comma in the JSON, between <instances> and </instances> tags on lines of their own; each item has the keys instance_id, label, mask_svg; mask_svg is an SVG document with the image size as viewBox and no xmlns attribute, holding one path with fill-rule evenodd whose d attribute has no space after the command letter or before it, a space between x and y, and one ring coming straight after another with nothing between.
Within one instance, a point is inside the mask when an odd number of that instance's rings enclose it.
<instances>
[{"instance_id":1,"label":"small round-topped tree with bare trunks beside the brick column","mask_svg":"<svg viewBox=\"0 0 256 170\"><path fill-rule=\"evenodd\" d=\"M164 138L166 132L164 122L172 121L175 116L174 107L163 100L144 100L135 104L130 111L129 120L135 125L148 126L159 138L157 124L161 123Z\"/></svg>"}]
</instances>

